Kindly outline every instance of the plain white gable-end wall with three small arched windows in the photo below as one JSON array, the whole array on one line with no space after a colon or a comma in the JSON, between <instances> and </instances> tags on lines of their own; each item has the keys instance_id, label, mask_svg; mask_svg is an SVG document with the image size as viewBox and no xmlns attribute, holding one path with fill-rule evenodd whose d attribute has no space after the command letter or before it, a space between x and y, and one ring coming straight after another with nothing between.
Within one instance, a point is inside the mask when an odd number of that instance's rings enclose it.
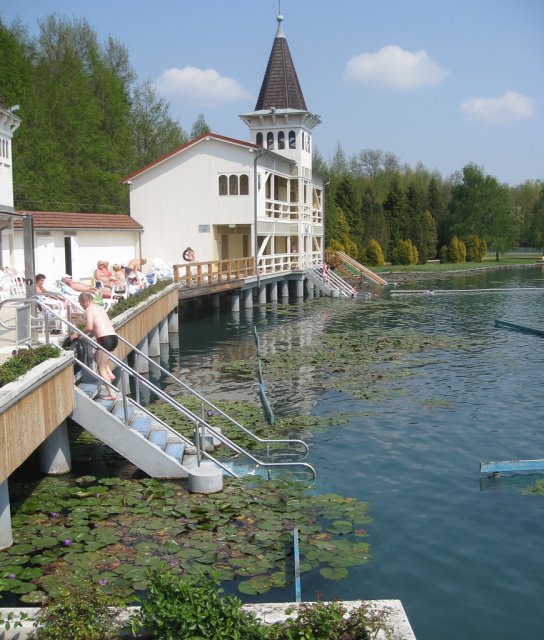
<instances>
[{"instance_id":1,"label":"plain white gable-end wall with three small arched windows","mask_svg":"<svg viewBox=\"0 0 544 640\"><path fill-rule=\"evenodd\" d=\"M219 259L215 225L253 225L253 158L246 147L210 139L136 177L131 215L143 225L142 252L182 263L190 246L200 262ZM219 195L220 175L246 174L247 195Z\"/></svg>"}]
</instances>

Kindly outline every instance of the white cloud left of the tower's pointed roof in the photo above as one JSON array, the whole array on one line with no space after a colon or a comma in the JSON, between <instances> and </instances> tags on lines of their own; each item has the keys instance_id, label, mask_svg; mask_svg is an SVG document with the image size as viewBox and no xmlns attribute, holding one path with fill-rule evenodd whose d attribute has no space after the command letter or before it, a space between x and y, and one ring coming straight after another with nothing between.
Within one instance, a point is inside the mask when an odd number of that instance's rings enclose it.
<instances>
[{"instance_id":1,"label":"white cloud left of the tower's pointed roof","mask_svg":"<svg viewBox=\"0 0 544 640\"><path fill-rule=\"evenodd\" d=\"M215 69L167 69L156 86L159 93L204 106L218 106L249 96L236 80L221 76Z\"/></svg>"}]
</instances>

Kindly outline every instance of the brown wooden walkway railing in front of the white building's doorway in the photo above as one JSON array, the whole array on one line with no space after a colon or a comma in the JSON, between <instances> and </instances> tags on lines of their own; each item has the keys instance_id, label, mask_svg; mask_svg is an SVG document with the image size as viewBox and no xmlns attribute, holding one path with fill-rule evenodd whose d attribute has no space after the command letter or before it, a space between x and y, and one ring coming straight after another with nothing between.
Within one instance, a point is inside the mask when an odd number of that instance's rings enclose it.
<instances>
[{"instance_id":1,"label":"brown wooden walkway railing in front of the white building's doorway","mask_svg":"<svg viewBox=\"0 0 544 640\"><path fill-rule=\"evenodd\" d=\"M254 276L255 259L232 258L174 265L174 282L182 287L209 287Z\"/></svg>"}]
</instances>

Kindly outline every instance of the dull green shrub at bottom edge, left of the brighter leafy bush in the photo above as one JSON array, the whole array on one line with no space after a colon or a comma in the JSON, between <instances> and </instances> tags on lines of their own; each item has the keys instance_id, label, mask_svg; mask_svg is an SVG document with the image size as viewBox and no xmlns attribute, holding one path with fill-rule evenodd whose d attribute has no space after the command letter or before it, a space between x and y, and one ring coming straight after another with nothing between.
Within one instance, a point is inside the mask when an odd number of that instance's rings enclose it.
<instances>
[{"instance_id":1,"label":"dull green shrub at bottom edge, left of the brighter leafy bush","mask_svg":"<svg viewBox=\"0 0 544 640\"><path fill-rule=\"evenodd\" d=\"M81 581L61 589L59 597L38 614L36 640L113 640L119 638L117 610L98 585Z\"/></svg>"}]
</instances>

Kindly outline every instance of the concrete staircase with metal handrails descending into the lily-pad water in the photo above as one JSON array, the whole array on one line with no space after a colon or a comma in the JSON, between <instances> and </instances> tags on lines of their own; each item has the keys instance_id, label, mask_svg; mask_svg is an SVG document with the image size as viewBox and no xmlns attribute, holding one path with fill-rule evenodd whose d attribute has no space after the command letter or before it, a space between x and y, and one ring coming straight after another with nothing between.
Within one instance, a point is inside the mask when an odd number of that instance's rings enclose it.
<instances>
[{"instance_id":1,"label":"concrete staircase with metal handrails descending into the lily-pad water","mask_svg":"<svg viewBox=\"0 0 544 640\"><path fill-rule=\"evenodd\" d=\"M168 378L172 394L177 394L181 390L197 398L201 405L201 415L194 413L173 395L155 386L126 362L112 354L108 354L111 366L120 372L118 376L120 381L118 388L112 384L109 386L116 390L118 398L117 400L101 398L100 389L107 382L94 371L90 352L102 347L81 333L65 318L57 316L51 310L49 313L67 325L71 333L80 335L76 343L79 345L79 353L74 366L77 370L74 389L76 407L72 418L151 477L186 478L191 467L200 465L202 459L205 459L220 467L224 474L231 477L246 474L271 477L275 469L288 469L294 471L295 476L300 476L302 473L306 476L305 480L308 473L315 478L314 468L307 462L302 462L309 451L308 445L303 440L260 438L121 336L118 336L119 341L129 346L138 359L146 359L151 370L154 367L159 370L161 377ZM81 353L81 344L85 345L84 353ZM177 419L182 417L185 422L193 425L194 442L142 406L139 402L141 389L173 408ZM224 419L223 422L226 421L226 426L222 425L221 429L218 429L210 425L206 417L212 414L220 415ZM224 433L225 431L228 431L228 435ZM264 451L266 459L257 458L256 455L238 445L235 441L238 432L253 439ZM224 461L211 455L217 445L223 445L230 450ZM277 451L279 448L287 451Z\"/></svg>"}]
</instances>

